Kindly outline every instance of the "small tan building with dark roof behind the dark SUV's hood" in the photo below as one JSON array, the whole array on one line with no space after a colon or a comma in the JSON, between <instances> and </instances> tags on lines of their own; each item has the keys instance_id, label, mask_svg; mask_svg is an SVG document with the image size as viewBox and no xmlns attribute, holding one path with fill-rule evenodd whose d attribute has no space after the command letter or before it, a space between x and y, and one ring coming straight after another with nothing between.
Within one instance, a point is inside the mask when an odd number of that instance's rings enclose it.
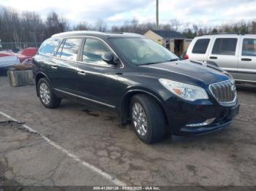
<instances>
[{"instance_id":1,"label":"small tan building with dark roof behind the dark SUV's hood","mask_svg":"<svg viewBox=\"0 0 256 191\"><path fill-rule=\"evenodd\" d=\"M144 36L161 44L178 56L186 51L192 42L192 39L187 39L186 36L177 31L149 30Z\"/></svg>"}]
</instances>

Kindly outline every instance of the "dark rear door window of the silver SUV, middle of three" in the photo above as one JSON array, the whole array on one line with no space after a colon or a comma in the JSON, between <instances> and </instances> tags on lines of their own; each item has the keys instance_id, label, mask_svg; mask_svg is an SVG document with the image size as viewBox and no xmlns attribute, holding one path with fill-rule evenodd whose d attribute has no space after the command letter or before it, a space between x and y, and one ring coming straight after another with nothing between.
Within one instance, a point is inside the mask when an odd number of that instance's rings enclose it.
<instances>
[{"instance_id":1,"label":"dark rear door window of the silver SUV, middle of three","mask_svg":"<svg viewBox=\"0 0 256 191\"><path fill-rule=\"evenodd\" d=\"M219 38L214 42L212 54L214 55L235 55L237 39Z\"/></svg>"}]
</instances>

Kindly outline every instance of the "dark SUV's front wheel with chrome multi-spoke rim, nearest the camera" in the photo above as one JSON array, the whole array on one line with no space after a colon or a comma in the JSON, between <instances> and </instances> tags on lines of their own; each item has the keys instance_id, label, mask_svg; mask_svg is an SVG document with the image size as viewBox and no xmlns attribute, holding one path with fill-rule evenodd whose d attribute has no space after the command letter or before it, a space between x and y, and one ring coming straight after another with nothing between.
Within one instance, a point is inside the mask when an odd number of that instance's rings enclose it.
<instances>
[{"instance_id":1,"label":"dark SUV's front wheel with chrome multi-spoke rim, nearest the camera","mask_svg":"<svg viewBox=\"0 0 256 191\"><path fill-rule=\"evenodd\" d=\"M143 109L143 111L138 109L141 112L140 117L138 114L136 115L136 106L139 108L138 104ZM154 98L143 94L134 95L129 104L129 115L136 135L144 143L152 144L162 140L165 136L165 115ZM146 119L143 120L144 116ZM140 127L142 127L141 130Z\"/></svg>"}]
</instances>

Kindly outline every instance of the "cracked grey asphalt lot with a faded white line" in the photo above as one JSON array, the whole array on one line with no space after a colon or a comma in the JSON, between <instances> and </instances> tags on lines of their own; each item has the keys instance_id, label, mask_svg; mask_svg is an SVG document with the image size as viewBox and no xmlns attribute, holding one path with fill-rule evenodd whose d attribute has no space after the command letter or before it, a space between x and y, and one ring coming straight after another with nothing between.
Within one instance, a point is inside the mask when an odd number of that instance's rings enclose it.
<instances>
[{"instance_id":1,"label":"cracked grey asphalt lot with a faded white line","mask_svg":"<svg viewBox=\"0 0 256 191\"><path fill-rule=\"evenodd\" d=\"M256 86L238 85L229 128L143 144L107 110L62 101L0 77L0 185L246 185L256 183Z\"/></svg>"}]
</instances>

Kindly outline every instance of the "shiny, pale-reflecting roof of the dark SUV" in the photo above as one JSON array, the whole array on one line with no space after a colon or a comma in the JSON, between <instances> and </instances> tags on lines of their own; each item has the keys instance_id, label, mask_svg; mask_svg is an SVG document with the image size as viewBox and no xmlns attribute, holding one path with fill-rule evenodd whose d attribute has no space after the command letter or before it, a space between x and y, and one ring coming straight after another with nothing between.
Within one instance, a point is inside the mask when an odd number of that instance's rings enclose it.
<instances>
[{"instance_id":1,"label":"shiny, pale-reflecting roof of the dark SUV","mask_svg":"<svg viewBox=\"0 0 256 191\"><path fill-rule=\"evenodd\" d=\"M99 36L99 37L144 37L140 34L132 33L103 33L99 31L69 31L60 34L53 34L54 37L67 37L67 36Z\"/></svg>"}]
</instances>

